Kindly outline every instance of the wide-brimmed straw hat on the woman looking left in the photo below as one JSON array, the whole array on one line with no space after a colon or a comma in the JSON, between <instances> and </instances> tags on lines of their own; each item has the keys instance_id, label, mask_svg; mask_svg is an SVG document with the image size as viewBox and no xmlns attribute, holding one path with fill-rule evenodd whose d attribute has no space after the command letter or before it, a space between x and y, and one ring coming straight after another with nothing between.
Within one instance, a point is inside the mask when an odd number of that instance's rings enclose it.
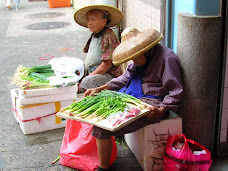
<instances>
[{"instance_id":1,"label":"wide-brimmed straw hat on the woman looking left","mask_svg":"<svg viewBox=\"0 0 228 171\"><path fill-rule=\"evenodd\" d=\"M123 13L118 8L108 6L108 5L90 5L90 6L80 8L75 12L74 14L75 22L83 27L87 27L87 13L90 10L95 10L95 9L104 10L109 13L109 20L111 20L111 22L107 25L107 27L116 26L123 19Z\"/></svg>"}]
</instances>

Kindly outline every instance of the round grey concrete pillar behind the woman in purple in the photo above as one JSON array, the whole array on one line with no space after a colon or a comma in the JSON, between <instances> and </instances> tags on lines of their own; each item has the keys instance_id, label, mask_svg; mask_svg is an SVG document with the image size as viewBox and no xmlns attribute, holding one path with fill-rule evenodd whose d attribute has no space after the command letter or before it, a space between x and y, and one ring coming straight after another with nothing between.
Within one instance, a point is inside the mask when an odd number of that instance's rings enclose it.
<instances>
[{"instance_id":1,"label":"round grey concrete pillar behind the woman in purple","mask_svg":"<svg viewBox=\"0 0 228 171\"><path fill-rule=\"evenodd\" d=\"M177 55L184 79L183 130L210 151L214 148L222 18L180 13Z\"/></svg>"}]
</instances>

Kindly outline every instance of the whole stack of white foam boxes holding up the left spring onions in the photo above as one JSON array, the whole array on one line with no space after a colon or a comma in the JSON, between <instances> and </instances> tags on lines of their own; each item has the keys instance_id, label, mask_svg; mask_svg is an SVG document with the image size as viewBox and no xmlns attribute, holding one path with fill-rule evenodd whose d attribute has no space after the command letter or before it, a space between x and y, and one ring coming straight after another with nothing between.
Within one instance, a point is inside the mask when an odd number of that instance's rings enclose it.
<instances>
[{"instance_id":1,"label":"whole stack of white foam boxes holding up the left spring onions","mask_svg":"<svg viewBox=\"0 0 228 171\"><path fill-rule=\"evenodd\" d=\"M63 88L67 88L67 91L63 91L62 88L60 89L60 92L64 94L59 93L58 89L54 91L50 89L52 92L45 89L44 92L49 94L48 96L39 89L36 92L30 90L26 93L27 97L24 97L22 95L23 91L19 89L11 90L14 117L24 134L33 134L66 126L66 120L57 117L56 112L74 102L77 97L77 89L75 90L75 86ZM71 93L69 90L74 90L74 93ZM54 99L54 97L59 98ZM38 99L41 100L38 101Z\"/></svg>"}]
</instances>

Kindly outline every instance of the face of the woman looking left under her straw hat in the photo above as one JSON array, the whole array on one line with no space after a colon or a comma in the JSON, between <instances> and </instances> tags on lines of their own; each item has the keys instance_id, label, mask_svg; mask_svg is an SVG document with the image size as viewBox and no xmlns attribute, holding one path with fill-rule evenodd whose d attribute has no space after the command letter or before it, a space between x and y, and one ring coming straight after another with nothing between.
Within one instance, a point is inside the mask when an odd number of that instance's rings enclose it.
<instances>
[{"instance_id":1,"label":"face of the woman looking left under her straw hat","mask_svg":"<svg viewBox=\"0 0 228 171\"><path fill-rule=\"evenodd\" d=\"M103 18L102 11L93 10L87 13L87 27L93 33L99 33L104 29L107 19Z\"/></svg>"}]
</instances>

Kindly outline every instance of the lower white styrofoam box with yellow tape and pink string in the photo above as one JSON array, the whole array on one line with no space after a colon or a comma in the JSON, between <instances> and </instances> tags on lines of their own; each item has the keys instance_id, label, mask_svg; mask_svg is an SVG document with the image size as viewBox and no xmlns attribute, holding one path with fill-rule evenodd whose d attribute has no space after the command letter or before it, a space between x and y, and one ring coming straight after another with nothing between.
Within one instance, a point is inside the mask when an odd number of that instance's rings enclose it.
<instances>
[{"instance_id":1,"label":"lower white styrofoam box with yellow tape and pink string","mask_svg":"<svg viewBox=\"0 0 228 171\"><path fill-rule=\"evenodd\" d=\"M19 103L18 89L11 90L14 117L24 134L33 134L66 126L66 120L56 117L60 108L69 106L74 99L60 102L22 106Z\"/></svg>"}]
</instances>

